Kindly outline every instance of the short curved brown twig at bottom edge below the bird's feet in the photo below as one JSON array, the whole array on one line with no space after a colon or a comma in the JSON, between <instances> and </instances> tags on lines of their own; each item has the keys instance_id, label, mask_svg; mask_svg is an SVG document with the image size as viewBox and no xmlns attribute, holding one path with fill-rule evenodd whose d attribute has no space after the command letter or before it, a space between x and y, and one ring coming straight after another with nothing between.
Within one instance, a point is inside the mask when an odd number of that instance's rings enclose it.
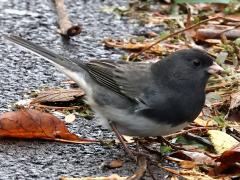
<instances>
[{"instance_id":1,"label":"short curved brown twig at bottom edge below the bird's feet","mask_svg":"<svg viewBox=\"0 0 240 180\"><path fill-rule=\"evenodd\" d=\"M139 168L132 176L128 177L127 180L140 180L144 176L147 170L147 159L145 156L138 157L138 165Z\"/></svg>"}]
</instances>

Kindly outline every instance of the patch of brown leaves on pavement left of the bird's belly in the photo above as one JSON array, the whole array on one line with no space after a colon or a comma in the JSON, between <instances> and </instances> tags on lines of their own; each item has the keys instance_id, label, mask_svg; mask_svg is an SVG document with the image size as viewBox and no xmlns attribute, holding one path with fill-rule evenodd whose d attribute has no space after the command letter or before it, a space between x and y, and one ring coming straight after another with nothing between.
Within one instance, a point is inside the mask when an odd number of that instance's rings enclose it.
<instances>
[{"instance_id":1,"label":"patch of brown leaves on pavement left of the bird's belly","mask_svg":"<svg viewBox=\"0 0 240 180\"><path fill-rule=\"evenodd\" d=\"M92 111L84 103L84 95L84 91L79 88L47 88L28 93L25 95L27 99L14 104L13 108L16 111L0 116L0 137L45 139L77 144L98 143L97 140L81 138L70 133L66 126L66 123L73 123L79 114L92 118Z\"/></svg>"}]
</instances>

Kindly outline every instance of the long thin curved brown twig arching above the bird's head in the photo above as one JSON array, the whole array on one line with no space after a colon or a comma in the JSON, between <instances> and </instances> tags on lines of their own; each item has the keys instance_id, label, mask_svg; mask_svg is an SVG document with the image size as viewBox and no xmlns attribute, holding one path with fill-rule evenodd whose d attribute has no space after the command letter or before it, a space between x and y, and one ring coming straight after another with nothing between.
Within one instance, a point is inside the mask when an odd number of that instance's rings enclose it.
<instances>
[{"instance_id":1,"label":"long thin curved brown twig arching above the bird's head","mask_svg":"<svg viewBox=\"0 0 240 180\"><path fill-rule=\"evenodd\" d=\"M172 34L169 34L169 35L167 35L167 36L165 36L165 37L163 37L163 38L160 38L160 39L156 40L156 41L155 41L154 43L152 43L150 46L146 47L145 49L143 49L142 51L140 51L139 53L137 53L133 58L135 59L137 56L139 56L140 54L142 54L144 51L149 50L150 48L152 48L152 47L155 46L156 44L160 43L161 41L164 41L164 40L166 40L166 39L168 39L168 38L170 38L170 37L176 36L176 35L179 34L179 33L182 33L182 32L187 31L187 30L189 30L189 29L195 28L195 27L197 27L197 26L199 26L199 25L201 25L201 24L204 24L204 23L206 23L206 22L208 22L208 21L212 21L212 20L216 20L216 19L224 19L224 20L229 20L229 21L235 21L235 20L233 20L233 19L228 19L228 18L225 18L225 17L222 17L222 16L217 16L217 17L212 17L212 18L209 18L209 19L205 19L205 20L203 20L203 21L201 21L201 22L198 22L198 23L196 23L196 24L193 24L192 26L186 27L186 28L184 28L184 29L181 29L181 30L179 30L179 31L176 31L176 32L174 32L174 33L172 33ZM239 21L237 21L237 22L239 22Z\"/></svg>"}]
</instances>

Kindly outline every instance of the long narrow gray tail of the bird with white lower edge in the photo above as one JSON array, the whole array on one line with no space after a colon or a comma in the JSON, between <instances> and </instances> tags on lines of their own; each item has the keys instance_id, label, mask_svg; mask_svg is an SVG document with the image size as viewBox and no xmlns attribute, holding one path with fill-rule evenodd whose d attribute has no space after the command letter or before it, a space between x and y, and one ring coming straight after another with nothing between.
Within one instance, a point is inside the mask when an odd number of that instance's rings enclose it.
<instances>
[{"instance_id":1,"label":"long narrow gray tail of the bird with white lower edge","mask_svg":"<svg viewBox=\"0 0 240 180\"><path fill-rule=\"evenodd\" d=\"M43 47L40 47L28 40L25 40L18 36L5 36L7 40L10 42L13 42L20 47L25 48L28 51L31 51L32 53L43 57L50 63L54 64L57 68L60 68L60 70L67 69L70 71L81 71L82 68L80 67L80 64L77 64L73 62L72 60L66 59L63 56L57 55ZM61 68L62 67L62 68Z\"/></svg>"}]
</instances>

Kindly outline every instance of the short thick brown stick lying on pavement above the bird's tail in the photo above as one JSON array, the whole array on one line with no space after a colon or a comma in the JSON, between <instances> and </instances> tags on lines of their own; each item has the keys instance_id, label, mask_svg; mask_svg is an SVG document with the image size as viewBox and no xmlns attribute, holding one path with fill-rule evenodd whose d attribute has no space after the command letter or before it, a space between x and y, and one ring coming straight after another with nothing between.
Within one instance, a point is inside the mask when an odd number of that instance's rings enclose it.
<instances>
[{"instance_id":1,"label":"short thick brown stick lying on pavement above the bird's tail","mask_svg":"<svg viewBox=\"0 0 240 180\"><path fill-rule=\"evenodd\" d=\"M72 25L71 21L69 20L67 9L64 5L64 0L54 0L54 2L58 14L60 34L67 38L80 34L81 27L78 25Z\"/></svg>"}]
</instances>

